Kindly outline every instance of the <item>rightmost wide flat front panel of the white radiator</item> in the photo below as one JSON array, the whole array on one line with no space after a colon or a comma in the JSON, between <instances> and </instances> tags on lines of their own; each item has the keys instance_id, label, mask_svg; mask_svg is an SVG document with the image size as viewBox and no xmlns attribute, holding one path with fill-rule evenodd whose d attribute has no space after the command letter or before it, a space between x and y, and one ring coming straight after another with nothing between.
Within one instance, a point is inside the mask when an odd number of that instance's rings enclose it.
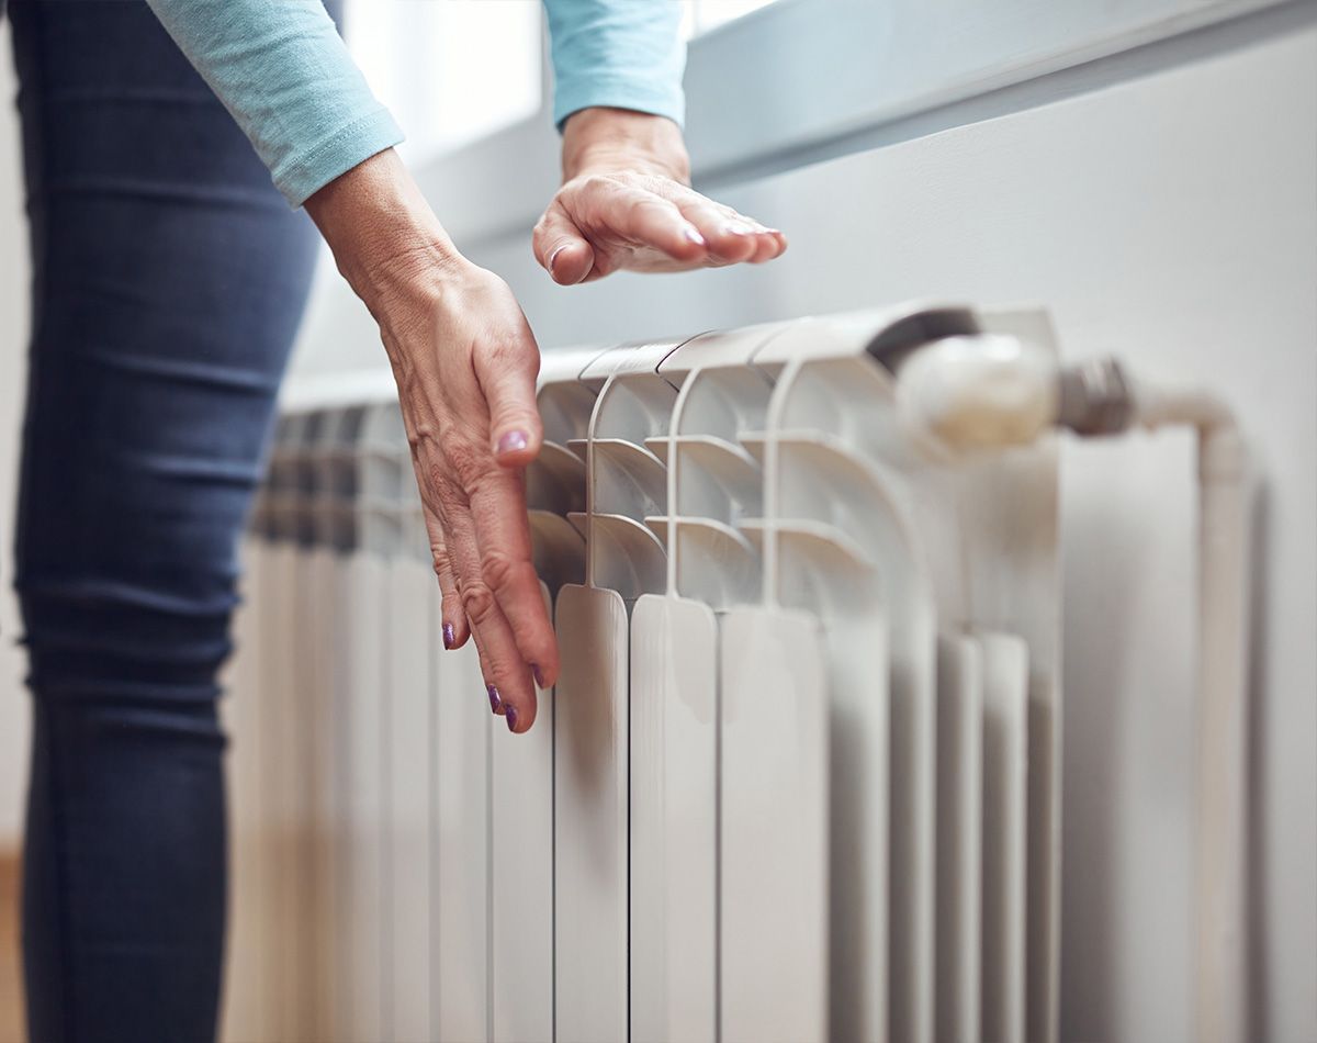
<instances>
[{"instance_id":1,"label":"rightmost wide flat front panel of the white radiator","mask_svg":"<svg viewBox=\"0 0 1317 1043\"><path fill-rule=\"evenodd\" d=\"M722 1031L827 1039L826 673L815 620L736 608L722 626Z\"/></svg>"}]
</instances>

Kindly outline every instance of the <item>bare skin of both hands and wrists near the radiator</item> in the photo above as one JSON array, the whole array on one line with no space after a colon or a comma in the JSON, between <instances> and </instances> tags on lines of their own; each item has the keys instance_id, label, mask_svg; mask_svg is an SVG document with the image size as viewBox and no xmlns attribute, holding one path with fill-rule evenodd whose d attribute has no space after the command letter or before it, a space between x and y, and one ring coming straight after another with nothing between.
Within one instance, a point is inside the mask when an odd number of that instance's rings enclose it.
<instances>
[{"instance_id":1,"label":"bare skin of both hands and wrists near the radiator","mask_svg":"<svg viewBox=\"0 0 1317 1043\"><path fill-rule=\"evenodd\" d=\"M690 188L670 120L582 109L562 133L562 186L535 225L535 257L572 286L614 271L763 263L786 249ZM444 641L474 637L495 712L535 722L535 683L558 651L531 561L523 469L543 428L540 350L512 291L454 248L392 149L306 203L338 270L379 324L443 591Z\"/></svg>"}]
</instances>

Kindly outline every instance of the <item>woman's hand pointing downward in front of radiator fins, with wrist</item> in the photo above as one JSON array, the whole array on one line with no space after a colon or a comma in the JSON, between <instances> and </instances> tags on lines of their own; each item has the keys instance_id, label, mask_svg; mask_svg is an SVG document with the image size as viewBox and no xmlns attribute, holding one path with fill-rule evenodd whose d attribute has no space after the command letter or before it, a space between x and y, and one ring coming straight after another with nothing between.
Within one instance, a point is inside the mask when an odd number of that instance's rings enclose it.
<instances>
[{"instance_id":1,"label":"woman's hand pointing downward in front of radiator fins, with wrist","mask_svg":"<svg viewBox=\"0 0 1317 1043\"><path fill-rule=\"evenodd\" d=\"M307 211L392 363L444 644L474 636L491 707L523 732L535 720L532 676L547 687L558 673L522 473L543 440L535 337L507 284L457 253L392 151L321 188Z\"/></svg>"}]
</instances>

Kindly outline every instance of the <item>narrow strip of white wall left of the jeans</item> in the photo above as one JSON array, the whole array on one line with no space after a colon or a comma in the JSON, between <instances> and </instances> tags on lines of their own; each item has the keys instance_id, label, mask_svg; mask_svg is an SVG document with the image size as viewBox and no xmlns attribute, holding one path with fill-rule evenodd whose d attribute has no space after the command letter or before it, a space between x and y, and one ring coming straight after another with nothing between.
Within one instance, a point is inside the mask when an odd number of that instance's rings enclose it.
<instances>
[{"instance_id":1,"label":"narrow strip of white wall left of the jeans","mask_svg":"<svg viewBox=\"0 0 1317 1043\"><path fill-rule=\"evenodd\" d=\"M13 508L28 356L28 228L8 32L0 30L0 851L17 843L28 764L28 693L13 597Z\"/></svg>"}]
</instances>

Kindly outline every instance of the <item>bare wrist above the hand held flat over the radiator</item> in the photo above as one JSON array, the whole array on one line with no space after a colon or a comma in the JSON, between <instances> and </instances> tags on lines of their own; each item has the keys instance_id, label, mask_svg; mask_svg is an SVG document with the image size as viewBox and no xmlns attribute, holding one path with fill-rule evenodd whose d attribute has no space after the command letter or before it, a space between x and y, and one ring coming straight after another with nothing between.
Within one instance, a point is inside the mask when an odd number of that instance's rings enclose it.
<instances>
[{"instance_id":1,"label":"bare wrist above the hand held flat over the radiator","mask_svg":"<svg viewBox=\"0 0 1317 1043\"><path fill-rule=\"evenodd\" d=\"M655 174L690 183L681 128L665 116L586 108L562 128L562 179L616 171Z\"/></svg>"}]
</instances>

